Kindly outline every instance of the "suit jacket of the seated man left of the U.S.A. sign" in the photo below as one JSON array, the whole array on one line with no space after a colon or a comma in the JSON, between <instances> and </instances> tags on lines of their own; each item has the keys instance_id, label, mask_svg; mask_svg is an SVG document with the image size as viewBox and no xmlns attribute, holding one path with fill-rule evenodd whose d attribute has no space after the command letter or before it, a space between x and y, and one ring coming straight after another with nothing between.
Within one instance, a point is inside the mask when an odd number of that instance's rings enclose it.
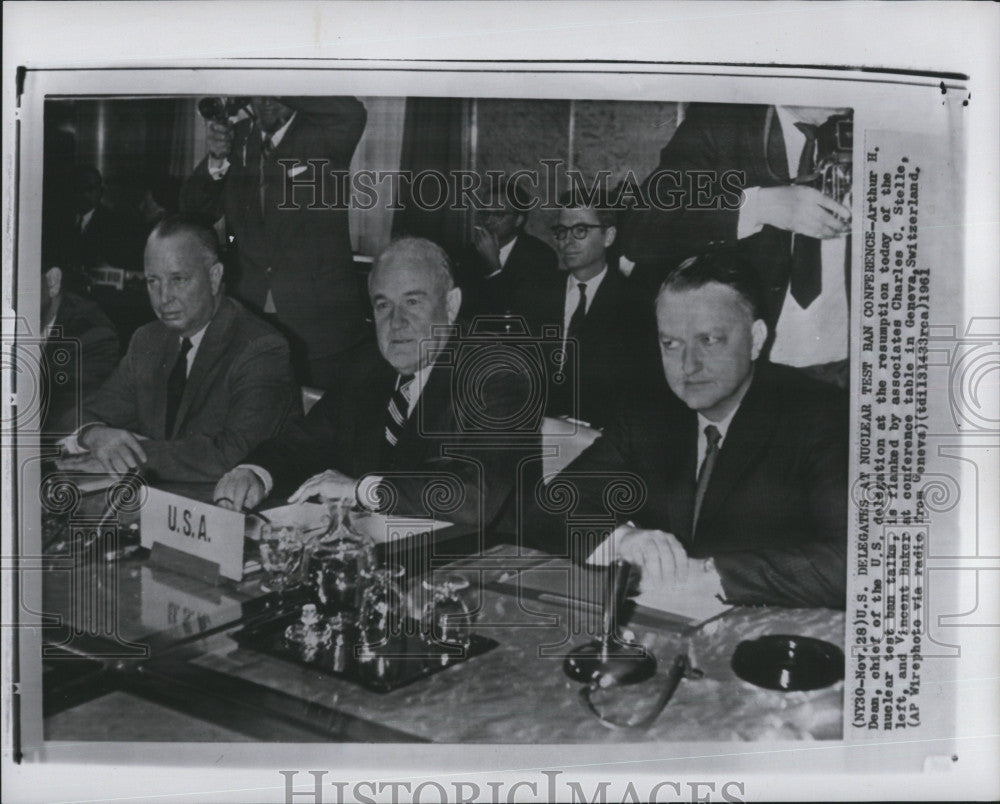
<instances>
[{"instance_id":1,"label":"suit jacket of the seated man left of the U.S.A. sign","mask_svg":"<svg viewBox=\"0 0 1000 804\"><path fill-rule=\"evenodd\" d=\"M288 344L224 297L167 433L167 377L179 350L177 333L159 321L136 330L114 374L85 406L84 423L103 422L149 439L142 446L151 477L215 482L301 410Z\"/></svg>"}]
</instances>

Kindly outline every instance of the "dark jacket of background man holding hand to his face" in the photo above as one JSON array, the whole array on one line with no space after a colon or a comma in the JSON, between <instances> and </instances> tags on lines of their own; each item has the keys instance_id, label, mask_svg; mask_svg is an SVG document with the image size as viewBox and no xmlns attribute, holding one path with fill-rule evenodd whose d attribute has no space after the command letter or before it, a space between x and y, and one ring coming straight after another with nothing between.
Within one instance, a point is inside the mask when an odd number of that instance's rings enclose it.
<instances>
[{"instance_id":1,"label":"dark jacket of background man holding hand to his face","mask_svg":"<svg viewBox=\"0 0 1000 804\"><path fill-rule=\"evenodd\" d=\"M462 288L462 318L478 315L525 315L526 300L558 273L559 258L537 237L521 232L507 256L503 270L487 278L489 270L474 248L466 250L459 263L458 284Z\"/></svg>"}]
</instances>

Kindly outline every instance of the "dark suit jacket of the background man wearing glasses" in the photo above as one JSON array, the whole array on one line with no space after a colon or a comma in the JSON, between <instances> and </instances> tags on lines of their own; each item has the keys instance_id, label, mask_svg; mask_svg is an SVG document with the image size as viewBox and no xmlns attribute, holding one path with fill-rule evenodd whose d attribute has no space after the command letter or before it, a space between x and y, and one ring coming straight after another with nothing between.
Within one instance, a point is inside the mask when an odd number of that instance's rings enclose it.
<instances>
[{"instance_id":1,"label":"dark suit jacket of the background man wearing glasses","mask_svg":"<svg viewBox=\"0 0 1000 804\"><path fill-rule=\"evenodd\" d=\"M525 317L536 336L546 326L555 327L562 336L566 278L564 271L552 274L523 298ZM558 345L558 341L543 344L550 352ZM572 366L570 354L568 366ZM652 301L614 268L608 269L590 303L576 360L578 373L568 372L568 385L557 381L556 361L547 361L547 415L570 415L603 427L628 389L662 380Z\"/></svg>"}]
</instances>

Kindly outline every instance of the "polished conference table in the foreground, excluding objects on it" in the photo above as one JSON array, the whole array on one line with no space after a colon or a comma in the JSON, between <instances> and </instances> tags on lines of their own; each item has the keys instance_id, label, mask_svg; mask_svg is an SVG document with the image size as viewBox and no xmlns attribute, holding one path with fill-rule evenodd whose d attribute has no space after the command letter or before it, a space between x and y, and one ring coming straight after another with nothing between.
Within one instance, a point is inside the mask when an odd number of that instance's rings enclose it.
<instances>
[{"instance_id":1,"label":"polished conference table in the foreground, excluding objects on it","mask_svg":"<svg viewBox=\"0 0 1000 804\"><path fill-rule=\"evenodd\" d=\"M210 489L174 491L205 499ZM106 504L103 494L84 496L72 515L97 515ZM43 528L53 527L49 520ZM132 544L138 514L119 513L118 521ZM574 607L558 589L540 592L521 582L565 559L498 543L435 563L435 572L469 581L472 630L489 649L382 692L243 638L297 611L308 599L305 590L267 592L259 571L240 582L209 583L159 566L128 544L114 556L71 550L46 559L46 740L541 744L812 740L842 733L842 681L808 692L767 690L741 680L731 662L738 644L768 634L842 648L843 612L735 607L692 624L632 606L624 629L656 658L657 670L641 683L600 691L599 708L609 720L653 711L678 656L696 672L680 681L648 726L606 728L583 702L582 685L563 672L569 651L593 637L599 613Z\"/></svg>"}]
</instances>

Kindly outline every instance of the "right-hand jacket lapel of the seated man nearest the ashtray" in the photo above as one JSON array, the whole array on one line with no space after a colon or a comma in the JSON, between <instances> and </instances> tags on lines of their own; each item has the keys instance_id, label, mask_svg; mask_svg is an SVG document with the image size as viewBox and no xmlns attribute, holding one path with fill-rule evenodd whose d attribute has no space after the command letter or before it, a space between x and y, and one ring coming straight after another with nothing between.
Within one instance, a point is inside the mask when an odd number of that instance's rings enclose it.
<instances>
[{"instance_id":1,"label":"right-hand jacket lapel of the seated man nearest the ashtray","mask_svg":"<svg viewBox=\"0 0 1000 804\"><path fill-rule=\"evenodd\" d=\"M757 462L761 450L773 440L780 416L774 415L767 394L766 366L758 366L753 382L733 417L722 443L712 479L705 490L699 523L712 518L748 467Z\"/></svg>"}]
</instances>

